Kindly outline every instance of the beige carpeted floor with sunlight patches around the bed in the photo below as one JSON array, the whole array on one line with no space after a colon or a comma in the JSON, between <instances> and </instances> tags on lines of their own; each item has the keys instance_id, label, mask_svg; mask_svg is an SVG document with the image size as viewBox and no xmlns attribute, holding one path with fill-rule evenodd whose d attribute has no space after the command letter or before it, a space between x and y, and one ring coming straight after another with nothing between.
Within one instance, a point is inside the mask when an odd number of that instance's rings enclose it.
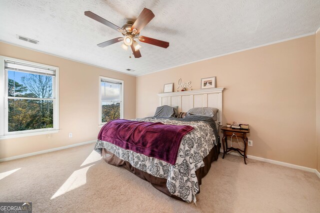
<instances>
[{"instance_id":1,"label":"beige carpeted floor with sunlight patches around the bed","mask_svg":"<svg viewBox=\"0 0 320 213\"><path fill-rule=\"evenodd\" d=\"M171 199L93 144L0 163L0 202L32 202L33 212L320 212L315 174L227 155L202 179L197 205Z\"/></svg>"}]
</instances>

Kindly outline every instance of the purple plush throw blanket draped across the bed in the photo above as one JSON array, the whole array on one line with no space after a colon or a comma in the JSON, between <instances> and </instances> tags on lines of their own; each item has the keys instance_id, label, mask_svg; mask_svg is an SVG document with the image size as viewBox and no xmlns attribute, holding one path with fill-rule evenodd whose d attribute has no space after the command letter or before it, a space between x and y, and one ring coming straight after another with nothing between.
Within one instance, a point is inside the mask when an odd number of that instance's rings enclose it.
<instances>
[{"instance_id":1,"label":"purple plush throw blanket draped across the bed","mask_svg":"<svg viewBox=\"0 0 320 213\"><path fill-rule=\"evenodd\" d=\"M98 140L173 165L183 136L192 130L191 126L118 119L102 127Z\"/></svg>"}]
</instances>

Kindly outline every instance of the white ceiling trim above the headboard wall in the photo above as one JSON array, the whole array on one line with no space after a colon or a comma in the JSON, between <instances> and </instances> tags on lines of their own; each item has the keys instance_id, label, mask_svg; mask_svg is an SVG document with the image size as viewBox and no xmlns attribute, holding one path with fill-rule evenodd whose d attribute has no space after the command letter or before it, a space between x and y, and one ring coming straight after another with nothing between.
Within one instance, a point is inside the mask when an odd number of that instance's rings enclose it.
<instances>
[{"instance_id":1,"label":"white ceiling trim above the headboard wall","mask_svg":"<svg viewBox=\"0 0 320 213\"><path fill-rule=\"evenodd\" d=\"M319 27L319 29L320 29L320 27ZM136 77L143 76L143 75L148 75L148 74L155 73L155 72L164 71L164 70L167 70L167 69L172 69L172 68L175 68L175 67L184 66L184 65L187 65L187 64L196 63L196 62L199 62L199 61L205 61L205 60L209 60L209 59L212 59L212 58L218 58L218 57L221 57L221 56L230 55L230 54L237 53L237 52L243 52L243 51L250 50L250 49L255 49L255 48L259 48L259 47L263 47L263 46L268 46L268 45L272 45L272 44L276 44L276 43L281 43L281 42L284 42L284 41L289 41L289 40L293 40L293 39L297 39L297 38L302 38L302 37L306 37L306 36L309 36L309 35L314 35L315 33L316 32L310 32L310 33L307 33L307 34L294 36L294 37L291 37L291 38L286 38L286 39L273 41L273 42L270 42L270 43L265 43L265 44L261 44L261 45L257 45L257 46L253 46L253 47L249 47L249 48L245 48L245 49L240 49L240 50L237 50L237 51L228 52L228 53L221 54L221 55L216 55L216 56L212 56L212 57L208 57L208 58L203 58L201 60L196 60L196 61L180 64L180 65L177 65L177 66L172 66L172 67L169 67L169 68L157 70L157 71L154 71L154 72L149 72L149 73L142 74L142 75L137 75Z\"/></svg>"}]
</instances>

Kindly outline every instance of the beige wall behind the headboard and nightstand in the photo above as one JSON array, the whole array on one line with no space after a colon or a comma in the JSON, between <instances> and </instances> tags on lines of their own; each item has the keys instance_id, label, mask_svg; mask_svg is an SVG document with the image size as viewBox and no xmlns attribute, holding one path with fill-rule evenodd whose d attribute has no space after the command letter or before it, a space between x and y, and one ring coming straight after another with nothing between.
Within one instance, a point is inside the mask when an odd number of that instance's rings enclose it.
<instances>
[{"instance_id":1,"label":"beige wall behind the headboard and nightstand","mask_svg":"<svg viewBox=\"0 0 320 213\"><path fill-rule=\"evenodd\" d=\"M316 168L315 36L208 59L136 78L136 117L153 115L163 84L216 76L223 125L250 125L248 155ZM183 54L183 53L181 53Z\"/></svg>"}]
</instances>

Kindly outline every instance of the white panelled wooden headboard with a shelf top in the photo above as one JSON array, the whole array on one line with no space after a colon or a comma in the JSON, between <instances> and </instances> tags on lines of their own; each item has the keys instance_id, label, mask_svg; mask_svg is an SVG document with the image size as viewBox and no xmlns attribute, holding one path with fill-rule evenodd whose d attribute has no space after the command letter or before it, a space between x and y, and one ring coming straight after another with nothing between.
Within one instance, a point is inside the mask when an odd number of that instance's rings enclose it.
<instances>
[{"instance_id":1,"label":"white panelled wooden headboard with a shelf top","mask_svg":"<svg viewBox=\"0 0 320 213\"><path fill-rule=\"evenodd\" d=\"M178 112L187 112L193 107L214 107L219 109L218 121L222 125L222 91L223 87L198 89L183 92L157 94L159 105L178 106Z\"/></svg>"}]
</instances>

